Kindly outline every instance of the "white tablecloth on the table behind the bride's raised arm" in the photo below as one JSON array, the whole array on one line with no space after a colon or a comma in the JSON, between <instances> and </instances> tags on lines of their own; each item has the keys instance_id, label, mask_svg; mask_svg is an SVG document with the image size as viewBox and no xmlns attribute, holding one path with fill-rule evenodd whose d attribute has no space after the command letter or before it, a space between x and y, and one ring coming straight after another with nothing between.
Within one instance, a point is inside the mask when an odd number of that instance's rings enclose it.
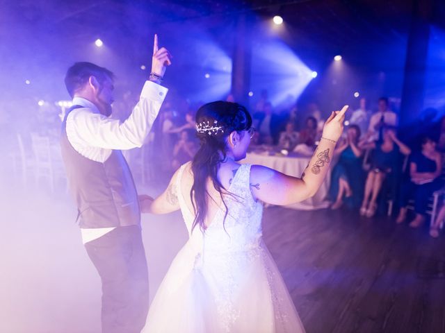
<instances>
[{"instance_id":1,"label":"white tablecloth on the table behind the bride's raised arm","mask_svg":"<svg viewBox=\"0 0 445 333\"><path fill-rule=\"evenodd\" d=\"M310 157L286 157L286 156L269 156L261 155L257 153L248 153L241 163L259 164L264 165L270 169L275 169L289 176L300 178L303 171L305 171L307 164L309 164ZM286 207L293 208L295 210L319 210L326 208L329 202L325 200L327 191L329 191L330 185L330 172L327 173L327 177L317 193L307 200L300 203L294 203L287 205Z\"/></svg>"}]
</instances>

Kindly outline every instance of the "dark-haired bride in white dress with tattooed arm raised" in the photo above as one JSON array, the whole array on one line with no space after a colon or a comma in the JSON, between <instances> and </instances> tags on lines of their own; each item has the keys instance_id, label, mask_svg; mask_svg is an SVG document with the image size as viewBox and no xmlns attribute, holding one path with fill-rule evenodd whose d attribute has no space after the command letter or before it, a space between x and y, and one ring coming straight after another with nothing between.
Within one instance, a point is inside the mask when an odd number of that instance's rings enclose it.
<instances>
[{"instance_id":1,"label":"dark-haired bride in white dress with tattooed arm raised","mask_svg":"<svg viewBox=\"0 0 445 333\"><path fill-rule=\"evenodd\" d=\"M347 106L332 112L302 178L239 164L254 133L249 112L216 101L196 114L200 150L143 212L181 210L189 239L173 260L143 332L305 332L261 237L262 203L313 196L329 169ZM279 218L279 216L277 216Z\"/></svg>"}]
</instances>

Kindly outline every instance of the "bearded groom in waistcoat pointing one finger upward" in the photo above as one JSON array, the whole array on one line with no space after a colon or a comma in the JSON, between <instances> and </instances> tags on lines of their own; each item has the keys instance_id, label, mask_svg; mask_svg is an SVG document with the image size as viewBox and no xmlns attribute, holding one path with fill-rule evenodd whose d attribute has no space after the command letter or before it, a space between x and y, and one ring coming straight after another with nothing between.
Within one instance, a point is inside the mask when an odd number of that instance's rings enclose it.
<instances>
[{"instance_id":1,"label":"bearded groom in waistcoat pointing one finger upward","mask_svg":"<svg viewBox=\"0 0 445 333\"><path fill-rule=\"evenodd\" d=\"M60 144L83 244L102 280L102 332L140 332L147 317L148 271L138 194L121 149L143 145L168 89L159 85L170 53L154 36L152 71L128 119L109 118L114 75L76 62L65 76L73 107Z\"/></svg>"}]
</instances>

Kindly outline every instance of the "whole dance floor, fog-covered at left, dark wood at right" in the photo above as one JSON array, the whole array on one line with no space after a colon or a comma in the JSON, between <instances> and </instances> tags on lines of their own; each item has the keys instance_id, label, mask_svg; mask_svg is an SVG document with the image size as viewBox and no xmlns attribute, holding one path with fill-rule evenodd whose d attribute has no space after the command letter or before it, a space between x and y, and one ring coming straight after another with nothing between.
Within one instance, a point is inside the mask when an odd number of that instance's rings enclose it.
<instances>
[{"instance_id":1,"label":"whole dance floor, fog-covered at left, dark wood at right","mask_svg":"<svg viewBox=\"0 0 445 333\"><path fill-rule=\"evenodd\" d=\"M0 192L0 332L99 332L99 277L70 198L12 188ZM264 237L308 333L445 332L445 236L270 207ZM143 238L152 298L186 241L180 214L144 216Z\"/></svg>"}]
</instances>

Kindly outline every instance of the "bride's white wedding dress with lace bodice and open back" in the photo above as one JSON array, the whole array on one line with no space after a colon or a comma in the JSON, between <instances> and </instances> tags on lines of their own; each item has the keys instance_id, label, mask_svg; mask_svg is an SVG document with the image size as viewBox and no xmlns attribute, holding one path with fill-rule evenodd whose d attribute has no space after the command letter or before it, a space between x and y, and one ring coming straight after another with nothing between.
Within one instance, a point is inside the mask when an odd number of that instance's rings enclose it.
<instances>
[{"instance_id":1,"label":"bride's white wedding dress with lace bodice and open back","mask_svg":"<svg viewBox=\"0 0 445 333\"><path fill-rule=\"evenodd\" d=\"M177 189L181 187L181 167ZM190 238L173 260L143 333L305 332L261 237L263 207L250 191L250 165L239 167L219 210L202 232L178 191Z\"/></svg>"}]
</instances>

